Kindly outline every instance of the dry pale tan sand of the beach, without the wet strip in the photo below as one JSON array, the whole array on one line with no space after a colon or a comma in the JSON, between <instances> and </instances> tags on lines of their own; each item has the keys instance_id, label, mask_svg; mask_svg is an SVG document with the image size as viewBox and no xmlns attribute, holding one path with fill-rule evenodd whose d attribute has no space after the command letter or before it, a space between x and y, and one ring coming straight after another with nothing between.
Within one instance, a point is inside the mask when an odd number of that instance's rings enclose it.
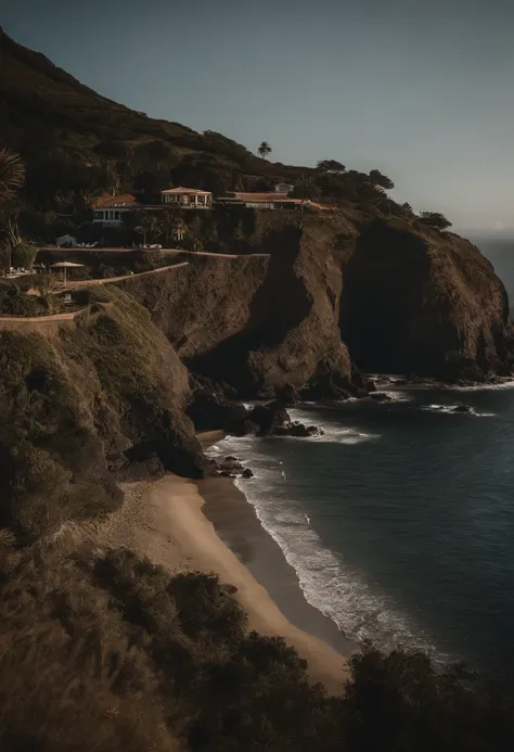
<instances>
[{"instance_id":1,"label":"dry pale tan sand of the beach, without the wet strip","mask_svg":"<svg viewBox=\"0 0 514 752\"><path fill-rule=\"evenodd\" d=\"M208 482L210 490L217 482ZM123 489L124 506L105 521L68 525L77 543L93 549L129 548L171 573L217 573L222 582L237 588L235 597L248 612L253 629L284 637L308 662L312 680L323 683L330 692L340 693L348 676L344 655L285 617L267 589L216 534L203 513L205 499L196 484L168 475L155 483L125 484ZM220 489L222 486L217 487L218 493ZM240 504L246 505L244 497ZM299 589L295 595L303 598Z\"/></svg>"}]
</instances>

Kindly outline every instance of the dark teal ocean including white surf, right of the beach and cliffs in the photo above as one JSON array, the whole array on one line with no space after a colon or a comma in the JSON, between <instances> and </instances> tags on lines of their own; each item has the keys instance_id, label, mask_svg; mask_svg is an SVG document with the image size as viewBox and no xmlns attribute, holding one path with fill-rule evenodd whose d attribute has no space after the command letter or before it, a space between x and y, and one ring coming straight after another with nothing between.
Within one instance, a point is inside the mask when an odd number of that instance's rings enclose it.
<instances>
[{"instance_id":1,"label":"dark teal ocean including white surf, right of the beach and cliffs","mask_svg":"<svg viewBox=\"0 0 514 752\"><path fill-rule=\"evenodd\" d=\"M514 243L480 245L514 299ZM514 384L305 405L320 438L229 437L307 601L350 640L514 675ZM470 405L470 413L453 412Z\"/></svg>"}]
</instances>

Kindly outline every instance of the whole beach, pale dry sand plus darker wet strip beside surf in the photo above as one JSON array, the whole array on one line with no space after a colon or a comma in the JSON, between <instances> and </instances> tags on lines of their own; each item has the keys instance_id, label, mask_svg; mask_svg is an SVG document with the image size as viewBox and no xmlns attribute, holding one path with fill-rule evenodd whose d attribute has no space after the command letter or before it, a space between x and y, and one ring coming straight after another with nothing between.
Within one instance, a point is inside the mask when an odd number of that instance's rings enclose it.
<instances>
[{"instance_id":1,"label":"whole beach, pale dry sand plus darker wet strip beside surf","mask_svg":"<svg viewBox=\"0 0 514 752\"><path fill-rule=\"evenodd\" d=\"M167 475L123 488L125 504L105 521L67 526L78 545L129 548L170 573L215 572L237 588L250 628L284 637L308 662L312 680L332 693L343 691L348 677L343 653L351 652L350 643L305 601L294 570L229 479L195 484Z\"/></svg>"}]
</instances>

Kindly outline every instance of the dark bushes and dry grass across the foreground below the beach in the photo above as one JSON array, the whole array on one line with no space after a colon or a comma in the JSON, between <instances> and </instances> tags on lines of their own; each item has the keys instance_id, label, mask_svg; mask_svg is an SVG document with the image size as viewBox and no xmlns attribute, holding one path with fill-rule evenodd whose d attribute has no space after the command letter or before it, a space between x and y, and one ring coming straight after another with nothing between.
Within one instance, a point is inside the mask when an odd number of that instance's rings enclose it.
<instances>
[{"instance_id":1,"label":"dark bushes and dry grass across the foreground below the beach","mask_svg":"<svg viewBox=\"0 0 514 752\"><path fill-rule=\"evenodd\" d=\"M501 752L513 708L425 655L367 648L346 696L248 632L217 577L65 544L0 557L4 752Z\"/></svg>"}]
</instances>

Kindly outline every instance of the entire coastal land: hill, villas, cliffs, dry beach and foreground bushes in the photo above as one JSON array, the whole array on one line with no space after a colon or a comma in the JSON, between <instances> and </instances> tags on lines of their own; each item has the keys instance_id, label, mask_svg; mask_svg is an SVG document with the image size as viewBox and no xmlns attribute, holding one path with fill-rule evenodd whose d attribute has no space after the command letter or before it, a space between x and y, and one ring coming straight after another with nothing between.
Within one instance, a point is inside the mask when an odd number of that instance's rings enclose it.
<instances>
[{"instance_id":1,"label":"entire coastal land: hill, villas, cliffs, dry beach and foreground bushes","mask_svg":"<svg viewBox=\"0 0 514 752\"><path fill-rule=\"evenodd\" d=\"M491 264L376 169L152 119L1 29L0 71L1 749L500 749L506 701L304 633L202 513L252 475L206 432L509 378Z\"/></svg>"}]
</instances>

